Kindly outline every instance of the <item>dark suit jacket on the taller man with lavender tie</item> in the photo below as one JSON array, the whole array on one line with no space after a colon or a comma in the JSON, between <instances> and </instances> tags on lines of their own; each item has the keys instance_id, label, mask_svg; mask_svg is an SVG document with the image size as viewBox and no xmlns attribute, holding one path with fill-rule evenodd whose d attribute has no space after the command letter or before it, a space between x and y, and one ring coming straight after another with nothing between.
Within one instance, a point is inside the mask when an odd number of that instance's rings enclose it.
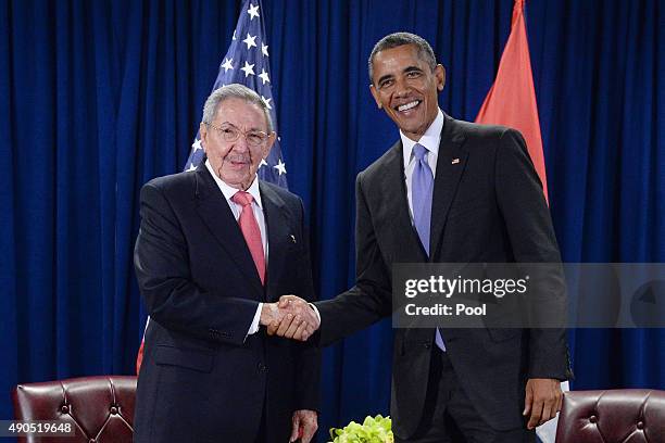
<instances>
[{"instance_id":1,"label":"dark suit jacket on the taller man with lavender tie","mask_svg":"<svg viewBox=\"0 0 665 443\"><path fill-rule=\"evenodd\" d=\"M391 314L393 264L560 261L540 181L524 139L513 129L446 116L429 258L409 216L401 141L359 174L356 199L356 283L316 303L324 345ZM442 333L462 388L498 430L524 426L527 378L568 377L562 329ZM434 329L396 330L391 415L393 431L402 439L421 421L434 345Z\"/></svg>"}]
</instances>

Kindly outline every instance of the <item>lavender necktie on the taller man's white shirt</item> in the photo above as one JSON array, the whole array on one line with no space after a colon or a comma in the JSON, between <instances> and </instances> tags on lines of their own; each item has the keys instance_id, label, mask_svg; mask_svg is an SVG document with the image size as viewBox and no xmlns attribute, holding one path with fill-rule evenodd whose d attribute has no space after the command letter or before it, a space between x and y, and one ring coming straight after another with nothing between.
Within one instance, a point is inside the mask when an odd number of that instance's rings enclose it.
<instances>
[{"instance_id":1,"label":"lavender necktie on the taller man's white shirt","mask_svg":"<svg viewBox=\"0 0 665 443\"><path fill-rule=\"evenodd\" d=\"M416 164L411 176L411 204L413 211L413 224L418 232L421 243L429 256L429 226L431 224L431 194L434 191L434 175L427 163L427 149L416 143L413 147L413 155ZM446 351L446 344L437 328L435 336L437 346Z\"/></svg>"}]
</instances>

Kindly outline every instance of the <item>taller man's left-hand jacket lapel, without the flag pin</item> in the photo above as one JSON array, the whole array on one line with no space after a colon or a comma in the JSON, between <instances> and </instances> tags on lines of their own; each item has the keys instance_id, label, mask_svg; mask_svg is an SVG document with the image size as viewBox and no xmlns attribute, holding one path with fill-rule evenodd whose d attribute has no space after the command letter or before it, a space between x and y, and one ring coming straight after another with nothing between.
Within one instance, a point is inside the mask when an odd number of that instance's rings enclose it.
<instances>
[{"instance_id":1,"label":"taller man's left-hand jacket lapel, without the flag pin","mask_svg":"<svg viewBox=\"0 0 665 443\"><path fill-rule=\"evenodd\" d=\"M382 176L384 189L381 199L385 213L379 217L390 219L392 223L391 238L396 239L400 248L398 250L399 262L423 262L426 260L425 249L411 223L409 215L409 200L406 197L406 183L404 178L404 155L402 141L398 141L390 148L390 155L386 160L385 174Z\"/></svg>"}]
</instances>

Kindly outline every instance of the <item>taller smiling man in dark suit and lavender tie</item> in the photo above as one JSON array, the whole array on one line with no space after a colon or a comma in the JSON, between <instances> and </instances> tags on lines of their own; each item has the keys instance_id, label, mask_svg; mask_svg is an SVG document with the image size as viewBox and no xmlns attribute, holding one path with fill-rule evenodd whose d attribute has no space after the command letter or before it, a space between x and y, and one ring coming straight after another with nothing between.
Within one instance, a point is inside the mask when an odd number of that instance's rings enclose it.
<instances>
[{"instance_id":1,"label":"taller smiling man in dark suit and lavender tie","mask_svg":"<svg viewBox=\"0 0 665 443\"><path fill-rule=\"evenodd\" d=\"M369 77L400 140L357 176L356 281L315 304L322 345L392 313L393 264L561 260L524 139L441 112L446 71L424 39L382 38ZM569 377L563 329L397 329L393 346L396 441L532 441Z\"/></svg>"}]
</instances>

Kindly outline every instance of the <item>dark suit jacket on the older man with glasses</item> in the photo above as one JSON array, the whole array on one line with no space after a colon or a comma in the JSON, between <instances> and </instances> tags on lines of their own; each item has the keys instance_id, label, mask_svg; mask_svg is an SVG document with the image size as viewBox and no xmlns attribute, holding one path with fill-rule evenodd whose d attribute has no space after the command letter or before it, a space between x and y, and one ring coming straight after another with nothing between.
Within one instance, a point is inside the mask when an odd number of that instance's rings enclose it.
<instances>
[{"instance_id":1,"label":"dark suit jacket on the older man with glasses","mask_svg":"<svg viewBox=\"0 0 665 443\"><path fill-rule=\"evenodd\" d=\"M259 302L313 300L301 200L260 182L265 289L238 223L204 165L141 189L136 274L151 316L135 419L137 442L288 441L297 409L318 409L318 351L262 330Z\"/></svg>"}]
</instances>

